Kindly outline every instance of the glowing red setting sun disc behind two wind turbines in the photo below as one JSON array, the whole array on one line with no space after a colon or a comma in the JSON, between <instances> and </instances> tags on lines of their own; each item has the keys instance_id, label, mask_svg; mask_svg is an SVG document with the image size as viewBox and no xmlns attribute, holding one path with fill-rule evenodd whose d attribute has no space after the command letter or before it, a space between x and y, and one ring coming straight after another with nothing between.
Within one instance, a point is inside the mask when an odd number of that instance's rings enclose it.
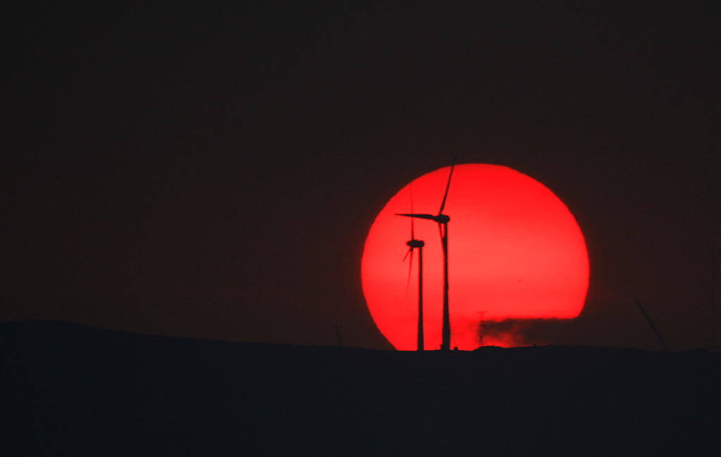
<instances>
[{"instance_id":1,"label":"glowing red setting sun disc behind two wind turbines","mask_svg":"<svg viewBox=\"0 0 721 457\"><path fill-rule=\"evenodd\" d=\"M405 186L376 217L363 250L363 294L379 330L395 348L415 350L418 255L405 258L411 219L438 214L451 167ZM588 254L580 228L543 184L505 166L456 166L443 214L448 222L451 347L479 345L479 322L577 317L588 289ZM443 250L438 224L415 219L423 240L425 348L441 346ZM409 273L409 266L411 269ZM410 284L409 281L410 274ZM483 344L514 345L513 338Z\"/></svg>"}]
</instances>

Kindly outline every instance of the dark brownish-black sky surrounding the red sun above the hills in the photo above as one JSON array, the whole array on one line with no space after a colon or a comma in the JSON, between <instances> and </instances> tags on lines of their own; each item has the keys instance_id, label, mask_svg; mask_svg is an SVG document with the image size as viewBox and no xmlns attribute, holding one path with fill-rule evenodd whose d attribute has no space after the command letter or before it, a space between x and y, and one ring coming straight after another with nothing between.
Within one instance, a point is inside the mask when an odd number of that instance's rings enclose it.
<instances>
[{"instance_id":1,"label":"dark brownish-black sky surrounding the red sun above the hills","mask_svg":"<svg viewBox=\"0 0 721 457\"><path fill-rule=\"evenodd\" d=\"M582 315L529 342L660 347L634 297L721 340L711 2L177 3L4 6L0 320L389 348L363 242L458 152L585 235Z\"/></svg>"}]
</instances>

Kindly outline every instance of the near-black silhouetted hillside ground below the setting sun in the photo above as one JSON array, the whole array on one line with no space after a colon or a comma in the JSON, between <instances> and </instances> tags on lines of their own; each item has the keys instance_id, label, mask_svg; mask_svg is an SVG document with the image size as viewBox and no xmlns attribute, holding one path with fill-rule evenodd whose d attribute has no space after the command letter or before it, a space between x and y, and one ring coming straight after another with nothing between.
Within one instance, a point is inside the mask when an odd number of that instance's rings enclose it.
<instances>
[{"instance_id":1,"label":"near-black silhouetted hillside ground below the setting sun","mask_svg":"<svg viewBox=\"0 0 721 457\"><path fill-rule=\"evenodd\" d=\"M407 353L0 324L0 455L720 455L721 355Z\"/></svg>"}]
</instances>

